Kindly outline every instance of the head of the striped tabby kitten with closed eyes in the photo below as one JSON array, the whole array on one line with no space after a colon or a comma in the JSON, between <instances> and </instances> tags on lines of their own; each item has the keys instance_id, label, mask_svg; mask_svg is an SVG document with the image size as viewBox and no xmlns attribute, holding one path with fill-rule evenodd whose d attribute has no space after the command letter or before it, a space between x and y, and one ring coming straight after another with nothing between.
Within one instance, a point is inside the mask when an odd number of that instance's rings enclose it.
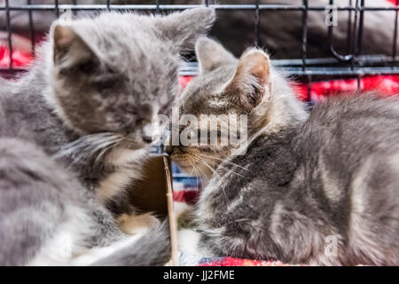
<instances>
[{"instance_id":1,"label":"head of the striped tabby kitten with closed eyes","mask_svg":"<svg viewBox=\"0 0 399 284\"><path fill-rule=\"evenodd\" d=\"M191 114L197 118L198 124L191 125L194 128L192 133L197 136L207 134L207 138L214 133L218 143L215 145L208 141L209 145L184 146L180 143L179 146L171 146L175 144L172 138L169 139L167 152L182 170L198 170L195 174L207 177L211 168L215 168L238 147L231 144L231 134L224 131L231 132L231 126L236 123L237 130L247 126L247 133L251 135L256 107L261 102L267 103L270 98L270 59L266 53L255 48L236 59L222 45L205 37L196 44L196 55L200 72L184 91L180 114ZM201 124L201 114L215 114L216 117L209 118L218 122L214 121L212 126ZM231 114L235 114L238 120L231 119ZM239 120L241 114L247 115L247 125L240 124L243 122ZM184 126L179 126L180 134L184 129ZM223 136L228 137L227 145L221 143ZM246 139L239 137L239 133L236 138Z\"/></svg>"}]
</instances>

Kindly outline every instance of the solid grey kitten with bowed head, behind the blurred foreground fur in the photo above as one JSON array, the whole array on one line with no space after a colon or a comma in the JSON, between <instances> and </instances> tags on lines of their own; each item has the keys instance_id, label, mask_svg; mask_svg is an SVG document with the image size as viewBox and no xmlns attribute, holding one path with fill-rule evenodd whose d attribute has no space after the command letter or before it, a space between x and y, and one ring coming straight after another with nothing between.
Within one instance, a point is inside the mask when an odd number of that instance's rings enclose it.
<instances>
[{"instance_id":1,"label":"solid grey kitten with bowed head, behind the blurred foreground fur","mask_svg":"<svg viewBox=\"0 0 399 284\"><path fill-rule=\"evenodd\" d=\"M129 213L123 206L125 189L141 177L145 149L160 134L154 118L168 114L179 99L179 53L192 49L214 20L215 12L202 8L167 17L109 12L67 25L55 22L27 75L0 82L0 138L27 140L54 156L59 167L70 170L84 191L95 196L92 208L111 209L125 233L141 233L143 226L158 224L148 214L121 215ZM13 143L7 146L12 151ZM24 155L19 159L16 168L23 170ZM36 159L37 170L49 159ZM28 176L35 190L35 178L41 175ZM2 178L7 182L12 176ZM53 184L46 178L41 182ZM33 207L30 214L40 208ZM99 224L114 223L102 213L95 217ZM6 225L4 232L8 230L12 228ZM106 231L102 226L99 230ZM42 248L47 243L28 245ZM25 258L18 264L34 256Z\"/></svg>"}]
</instances>

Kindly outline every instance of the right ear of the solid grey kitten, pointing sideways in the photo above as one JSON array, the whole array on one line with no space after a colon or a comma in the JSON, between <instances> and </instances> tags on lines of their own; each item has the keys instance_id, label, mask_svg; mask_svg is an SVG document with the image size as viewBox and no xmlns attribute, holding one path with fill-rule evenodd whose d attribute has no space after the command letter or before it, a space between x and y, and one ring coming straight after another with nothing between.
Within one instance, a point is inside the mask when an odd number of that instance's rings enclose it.
<instances>
[{"instance_id":1,"label":"right ear of the solid grey kitten, pointing sideways","mask_svg":"<svg viewBox=\"0 0 399 284\"><path fill-rule=\"evenodd\" d=\"M175 51L192 51L199 36L205 36L215 22L212 8L188 9L167 17L155 19L155 26L161 36L173 44Z\"/></svg>"}]
</instances>

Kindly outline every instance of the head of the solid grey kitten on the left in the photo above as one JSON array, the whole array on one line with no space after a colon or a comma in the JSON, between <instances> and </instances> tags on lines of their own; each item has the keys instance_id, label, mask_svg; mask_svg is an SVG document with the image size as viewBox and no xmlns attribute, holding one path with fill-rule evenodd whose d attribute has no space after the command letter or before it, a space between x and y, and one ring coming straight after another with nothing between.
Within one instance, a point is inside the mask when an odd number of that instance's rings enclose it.
<instances>
[{"instance_id":1,"label":"head of the solid grey kitten on the left","mask_svg":"<svg viewBox=\"0 0 399 284\"><path fill-rule=\"evenodd\" d=\"M114 133L129 148L153 142L153 120L179 99L180 57L215 20L200 8L166 17L106 12L51 27L50 100L81 135Z\"/></svg>"}]
</instances>

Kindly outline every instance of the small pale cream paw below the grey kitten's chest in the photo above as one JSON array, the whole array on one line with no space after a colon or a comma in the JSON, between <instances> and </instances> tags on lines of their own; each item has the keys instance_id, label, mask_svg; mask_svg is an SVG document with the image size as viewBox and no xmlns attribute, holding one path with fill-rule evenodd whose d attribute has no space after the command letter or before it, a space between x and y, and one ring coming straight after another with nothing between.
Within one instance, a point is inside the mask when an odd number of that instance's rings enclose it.
<instances>
[{"instance_id":1,"label":"small pale cream paw below the grey kitten's chest","mask_svg":"<svg viewBox=\"0 0 399 284\"><path fill-rule=\"evenodd\" d=\"M141 215L122 214L121 217L118 218L118 222L121 231L128 234L146 233L148 230L160 225L160 220L153 217L151 213Z\"/></svg>"}]
</instances>

